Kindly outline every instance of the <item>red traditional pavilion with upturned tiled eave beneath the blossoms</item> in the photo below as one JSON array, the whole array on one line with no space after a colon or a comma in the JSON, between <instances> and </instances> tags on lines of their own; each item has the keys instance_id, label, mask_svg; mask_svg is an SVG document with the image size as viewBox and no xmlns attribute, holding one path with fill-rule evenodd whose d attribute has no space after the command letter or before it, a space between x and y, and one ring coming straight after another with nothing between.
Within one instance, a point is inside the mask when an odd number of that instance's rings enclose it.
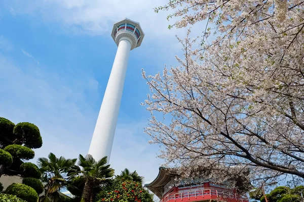
<instances>
[{"instance_id":1,"label":"red traditional pavilion with upturned tiled eave beneath the blossoms","mask_svg":"<svg viewBox=\"0 0 304 202\"><path fill-rule=\"evenodd\" d=\"M169 169L160 167L156 179L144 186L157 195L161 202L249 202L247 196L239 195L236 190L228 188L227 184L215 184L210 180L196 180L191 184L175 185L174 178L177 176Z\"/></svg>"}]
</instances>

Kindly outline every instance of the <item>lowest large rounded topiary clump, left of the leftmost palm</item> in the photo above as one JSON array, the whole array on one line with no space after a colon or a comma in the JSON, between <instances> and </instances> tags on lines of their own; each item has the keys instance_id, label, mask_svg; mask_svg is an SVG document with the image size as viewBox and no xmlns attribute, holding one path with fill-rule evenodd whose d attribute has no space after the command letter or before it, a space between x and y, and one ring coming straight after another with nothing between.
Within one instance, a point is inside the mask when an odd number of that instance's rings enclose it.
<instances>
[{"instance_id":1,"label":"lowest large rounded topiary clump, left of the leftmost palm","mask_svg":"<svg viewBox=\"0 0 304 202\"><path fill-rule=\"evenodd\" d=\"M37 202L38 200L37 192L25 184L13 183L8 186L6 193L16 195L17 197L26 200L27 202Z\"/></svg>"}]
</instances>

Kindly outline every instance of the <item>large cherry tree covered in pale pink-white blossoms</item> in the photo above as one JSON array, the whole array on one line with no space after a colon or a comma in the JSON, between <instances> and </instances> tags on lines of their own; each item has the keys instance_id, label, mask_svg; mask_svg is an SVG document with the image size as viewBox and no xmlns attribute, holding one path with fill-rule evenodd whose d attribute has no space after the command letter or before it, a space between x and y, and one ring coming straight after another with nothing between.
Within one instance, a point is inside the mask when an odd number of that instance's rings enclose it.
<instances>
[{"instance_id":1,"label":"large cherry tree covered in pale pink-white blossoms","mask_svg":"<svg viewBox=\"0 0 304 202\"><path fill-rule=\"evenodd\" d=\"M168 165L185 177L209 170L225 180L217 168L249 170L253 183L304 179L303 5L170 0L155 9L171 10L168 19L181 19L171 25L177 28L206 22L199 48L198 38L178 38L179 66L154 76L142 71L150 89L145 132Z\"/></svg>"}]
</instances>

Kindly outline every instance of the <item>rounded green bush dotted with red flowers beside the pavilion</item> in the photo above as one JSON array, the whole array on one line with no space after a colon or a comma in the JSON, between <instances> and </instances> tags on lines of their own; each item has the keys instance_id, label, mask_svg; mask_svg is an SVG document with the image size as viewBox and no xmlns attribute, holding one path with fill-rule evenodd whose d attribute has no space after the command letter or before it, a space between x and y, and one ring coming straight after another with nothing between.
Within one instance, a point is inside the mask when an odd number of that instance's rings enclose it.
<instances>
[{"instance_id":1,"label":"rounded green bush dotted with red flowers beside the pavilion","mask_svg":"<svg viewBox=\"0 0 304 202\"><path fill-rule=\"evenodd\" d=\"M153 198L138 182L118 178L98 193L96 201L151 202Z\"/></svg>"}]
</instances>

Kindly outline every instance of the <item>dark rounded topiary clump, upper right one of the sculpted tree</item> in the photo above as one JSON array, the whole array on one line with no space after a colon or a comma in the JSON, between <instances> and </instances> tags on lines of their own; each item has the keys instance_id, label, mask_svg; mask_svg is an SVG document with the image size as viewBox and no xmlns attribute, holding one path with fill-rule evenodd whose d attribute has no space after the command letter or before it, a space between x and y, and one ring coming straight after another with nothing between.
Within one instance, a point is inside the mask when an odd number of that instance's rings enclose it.
<instances>
[{"instance_id":1,"label":"dark rounded topiary clump, upper right one of the sculpted tree","mask_svg":"<svg viewBox=\"0 0 304 202\"><path fill-rule=\"evenodd\" d=\"M40 148L42 146L39 128L32 123L18 123L14 128L14 134L19 139L19 143L24 144L24 146L29 148Z\"/></svg>"}]
</instances>

